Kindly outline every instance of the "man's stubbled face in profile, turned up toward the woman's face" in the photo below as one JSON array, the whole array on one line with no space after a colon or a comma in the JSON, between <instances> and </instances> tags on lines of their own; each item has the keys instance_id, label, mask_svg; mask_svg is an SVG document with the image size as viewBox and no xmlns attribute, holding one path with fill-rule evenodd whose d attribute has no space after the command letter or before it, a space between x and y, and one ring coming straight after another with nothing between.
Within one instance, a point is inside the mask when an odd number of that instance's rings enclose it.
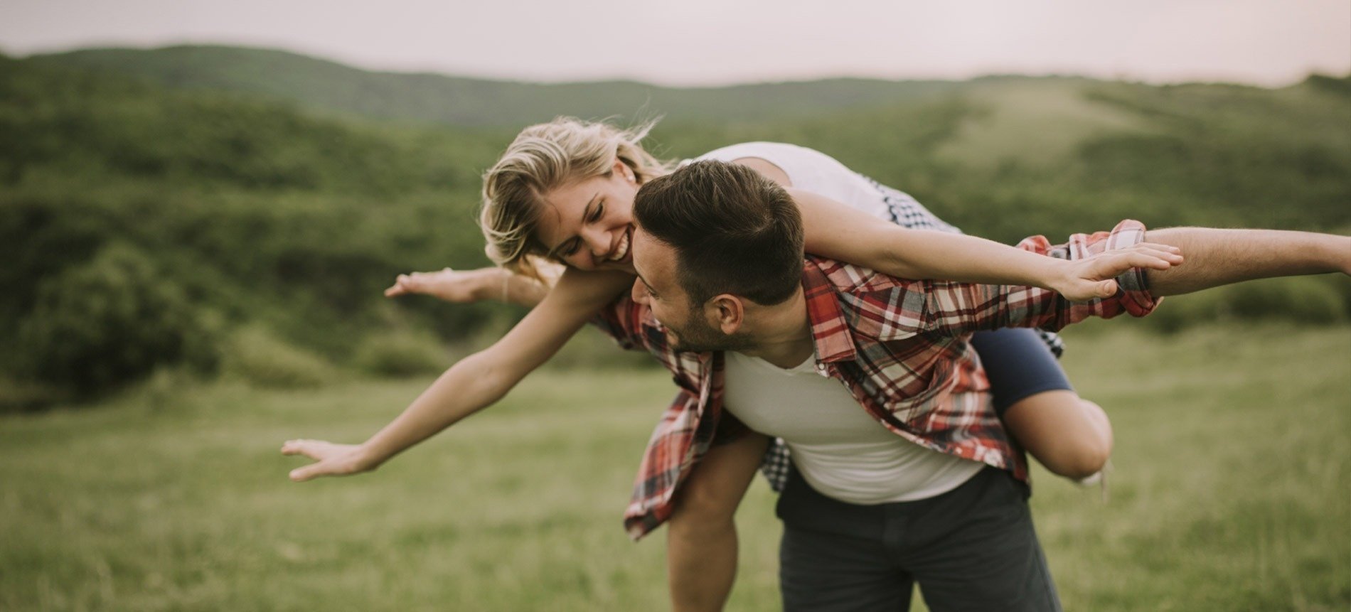
<instances>
[{"instance_id":1,"label":"man's stubbled face in profile, turned up toward the woman's face","mask_svg":"<svg viewBox=\"0 0 1351 612\"><path fill-rule=\"evenodd\" d=\"M646 304L666 328L671 349L678 351L742 350L750 346L740 334L723 334L704 304L690 304L677 277L676 250L640 227L634 230L634 301Z\"/></svg>"}]
</instances>

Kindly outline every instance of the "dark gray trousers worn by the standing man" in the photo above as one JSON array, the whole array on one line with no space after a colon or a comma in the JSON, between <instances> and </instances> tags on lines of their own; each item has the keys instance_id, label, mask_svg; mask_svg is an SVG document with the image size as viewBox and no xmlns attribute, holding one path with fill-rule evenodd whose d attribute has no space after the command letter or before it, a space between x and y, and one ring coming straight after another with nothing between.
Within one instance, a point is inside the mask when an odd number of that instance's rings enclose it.
<instances>
[{"instance_id":1,"label":"dark gray trousers worn by the standing man","mask_svg":"<svg viewBox=\"0 0 1351 612\"><path fill-rule=\"evenodd\" d=\"M1004 470L927 500L855 505L794 469L777 511L785 611L907 611L915 582L934 612L1061 611L1027 486Z\"/></svg>"}]
</instances>

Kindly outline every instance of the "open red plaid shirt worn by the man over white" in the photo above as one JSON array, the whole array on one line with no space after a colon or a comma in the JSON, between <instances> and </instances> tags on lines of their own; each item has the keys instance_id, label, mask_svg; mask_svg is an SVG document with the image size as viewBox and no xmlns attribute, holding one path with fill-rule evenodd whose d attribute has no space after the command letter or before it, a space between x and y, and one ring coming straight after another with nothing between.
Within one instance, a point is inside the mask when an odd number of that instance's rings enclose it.
<instances>
[{"instance_id":1,"label":"open red plaid shirt worn by the man over white","mask_svg":"<svg viewBox=\"0 0 1351 612\"><path fill-rule=\"evenodd\" d=\"M1066 245L1032 236L1019 247L1079 259L1143 238L1144 226L1125 220L1111 232L1075 234ZM1140 270L1117 281L1123 290L1115 297L1071 304L1047 289L909 281L811 255L802 266L817 372L843 382L896 435L1021 480L1027 461L990 408L989 381L967 343L970 332L1059 330L1089 316L1143 316L1154 309L1158 300L1146 290ZM624 526L638 539L670 517L677 488L715 439L743 426L721 413L721 353L673 351L651 311L627 297L600 319L620 345L657 355L681 389L653 431L624 512Z\"/></svg>"}]
</instances>

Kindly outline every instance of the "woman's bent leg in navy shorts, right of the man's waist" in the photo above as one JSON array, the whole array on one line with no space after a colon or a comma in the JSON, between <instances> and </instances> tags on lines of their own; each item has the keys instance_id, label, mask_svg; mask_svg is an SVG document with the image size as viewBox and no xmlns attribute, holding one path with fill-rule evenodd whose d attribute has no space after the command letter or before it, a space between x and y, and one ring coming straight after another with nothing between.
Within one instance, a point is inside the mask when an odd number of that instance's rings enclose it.
<instances>
[{"instance_id":1,"label":"woman's bent leg in navy shorts, right of the man's waist","mask_svg":"<svg viewBox=\"0 0 1351 612\"><path fill-rule=\"evenodd\" d=\"M1055 474L1082 480L1112 454L1112 423L1070 386L1065 370L1032 330L975 334L994 409L1013 439Z\"/></svg>"}]
</instances>

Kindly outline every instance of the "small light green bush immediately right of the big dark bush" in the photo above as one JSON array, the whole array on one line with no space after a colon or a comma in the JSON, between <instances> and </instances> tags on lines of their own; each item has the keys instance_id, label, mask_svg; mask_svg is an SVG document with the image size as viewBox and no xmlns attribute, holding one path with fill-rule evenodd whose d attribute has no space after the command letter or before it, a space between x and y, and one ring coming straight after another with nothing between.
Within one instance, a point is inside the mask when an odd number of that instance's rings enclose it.
<instances>
[{"instance_id":1,"label":"small light green bush immediately right of the big dark bush","mask_svg":"<svg viewBox=\"0 0 1351 612\"><path fill-rule=\"evenodd\" d=\"M338 370L331 363L259 326L231 335L222 370L231 378L280 389L315 388L338 380Z\"/></svg>"}]
</instances>

